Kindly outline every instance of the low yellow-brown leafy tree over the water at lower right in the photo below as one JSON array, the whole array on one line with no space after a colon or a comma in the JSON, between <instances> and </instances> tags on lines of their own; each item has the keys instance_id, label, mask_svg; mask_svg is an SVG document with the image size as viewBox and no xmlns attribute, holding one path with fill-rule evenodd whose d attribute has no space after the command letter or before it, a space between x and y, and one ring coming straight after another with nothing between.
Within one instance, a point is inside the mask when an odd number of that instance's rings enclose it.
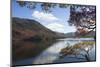
<instances>
[{"instance_id":1,"label":"low yellow-brown leafy tree over the water at lower right","mask_svg":"<svg viewBox=\"0 0 100 67\"><path fill-rule=\"evenodd\" d=\"M94 42L80 42L73 46L68 46L63 48L60 52L60 58L69 56L69 58L85 59L86 61L91 61L90 51L93 49Z\"/></svg>"}]
</instances>

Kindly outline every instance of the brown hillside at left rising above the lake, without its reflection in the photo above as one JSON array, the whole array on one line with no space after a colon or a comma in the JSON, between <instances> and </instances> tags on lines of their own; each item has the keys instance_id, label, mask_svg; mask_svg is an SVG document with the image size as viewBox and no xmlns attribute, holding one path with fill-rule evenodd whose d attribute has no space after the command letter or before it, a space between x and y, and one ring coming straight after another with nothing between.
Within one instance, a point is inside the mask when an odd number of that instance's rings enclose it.
<instances>
[{"instance_id":1,"label":"brown hillside at left rising above the lake, without its reflection","mask_svg":"<svg viewBox=\"0 0 100 67\"><path fill-rule=\"evenodd\" d=\"M43 38L59 38L63 33L51 31L41 25L39 22L30 19L13 18L12 19L13 36L20 39L27 39L30 37L43 37ZM23 35L23 36L21 36Z\"/></svg>"}]
</instances>

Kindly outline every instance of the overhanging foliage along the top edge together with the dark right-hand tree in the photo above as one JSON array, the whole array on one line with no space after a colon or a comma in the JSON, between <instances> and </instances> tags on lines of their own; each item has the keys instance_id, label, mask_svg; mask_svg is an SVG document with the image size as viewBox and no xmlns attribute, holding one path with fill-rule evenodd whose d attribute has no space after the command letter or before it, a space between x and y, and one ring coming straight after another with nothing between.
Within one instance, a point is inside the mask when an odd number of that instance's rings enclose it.
<instances>
[{"instance_id":1,"label":"overhanging foliage along the top edge together with the dark right-hand tree","mask_svg":"<svg viewBox=\"0 0 100 67\"><path fill-rule=\"evenodd\" d=\"M51 12L52 8L70 8L69 25L77 28L76 35L85 35L96 28L96 7L92 5L74 5L74 4L55 4L55 3L36 3L27 1L17 1L21 7L29 9L41 7L44 12Z\"/></svg>"}]
</instances>

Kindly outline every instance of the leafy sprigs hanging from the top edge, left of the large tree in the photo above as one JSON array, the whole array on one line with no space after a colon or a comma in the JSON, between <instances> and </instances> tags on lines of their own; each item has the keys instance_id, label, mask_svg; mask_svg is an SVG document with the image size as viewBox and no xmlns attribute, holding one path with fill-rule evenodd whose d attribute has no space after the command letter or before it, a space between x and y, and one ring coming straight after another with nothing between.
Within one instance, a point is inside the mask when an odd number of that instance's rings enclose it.
<instances>
[{"instance_id":1,"label":"leafy sprigs hanging from the top edge, left of the large tree","mask_svg":"<svg viewBox=\"0 0 100 67\"><path fill-rule=\"evenodd\" d=\"M51 8L54 8L55 6L57 6L57 4L54 3L36 3L36 2L28 2L28 1L17 1L17 3L21 6L21 7L27 7L29 9L35 9L37 5L39 5L41 7L41 9L44 12L51 12Z\"/></svg>"}]
</instances>

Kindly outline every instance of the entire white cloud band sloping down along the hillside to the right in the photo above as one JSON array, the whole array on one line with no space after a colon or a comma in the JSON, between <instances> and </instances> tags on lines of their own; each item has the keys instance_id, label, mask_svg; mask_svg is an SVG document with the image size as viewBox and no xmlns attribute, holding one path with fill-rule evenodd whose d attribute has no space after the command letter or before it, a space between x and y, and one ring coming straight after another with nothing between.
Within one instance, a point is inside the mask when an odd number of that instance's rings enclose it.
<instances>
[{"instance_id":1,"label":"entire white cloud band sloping down along the hillside to the right","mask_svg":"<svg viewBox=\"0 0 100 67\"><path fill-rule=\"evenodd\" d=\"M56 32L67 33L75 31L74 27L70 27L62 19L56 17L52 13L44 13L42 11L33 11L32 17L43 24L48 29Z\"/></svg>"}]
</instances>

